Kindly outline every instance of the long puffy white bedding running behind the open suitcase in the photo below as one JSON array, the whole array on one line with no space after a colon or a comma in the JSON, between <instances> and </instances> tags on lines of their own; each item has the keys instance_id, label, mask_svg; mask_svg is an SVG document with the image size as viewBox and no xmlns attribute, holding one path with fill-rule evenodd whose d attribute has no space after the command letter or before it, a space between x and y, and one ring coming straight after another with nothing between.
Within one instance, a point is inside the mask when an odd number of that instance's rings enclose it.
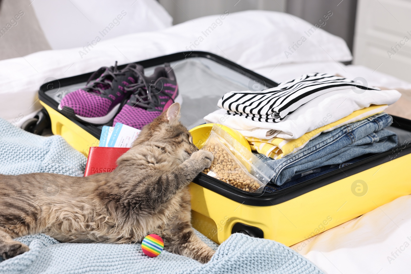
<instances>
[{"instance_id":1,"label":"long puffy white bedding running behind the open suitcase","mask_svg":"<svg viewBox=\"0 0 411 274\"><path fill-rule=\"evenodd\" d=\"M1 60L0 117L13 120L20 113L30 117L40 108L38 101L35 103L37 90L50 77L59 79L95 71L116 60L125 64L187 50L209 51L249 69L279 62L351 60L344 40L321 29L287 59L284 51L311 27L306 21L281 12L226 12L163 30L103 39L87 52L79 47Z\"/></svg>"}]
</instances>

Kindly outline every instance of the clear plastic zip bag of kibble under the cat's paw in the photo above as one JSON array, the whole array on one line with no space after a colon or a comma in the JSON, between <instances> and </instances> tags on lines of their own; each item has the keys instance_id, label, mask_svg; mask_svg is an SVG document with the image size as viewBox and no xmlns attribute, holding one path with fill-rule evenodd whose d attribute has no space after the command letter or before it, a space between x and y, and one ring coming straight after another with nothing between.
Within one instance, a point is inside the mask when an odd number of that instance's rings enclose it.
<instances>
[{"instance_id":1,"label":"clear plastic zip bag of kibble under the cat's paw","mask_svg":"<svg viewBox=\"0 0 411 274\"><path fill-rule=\"evenodd\" d=\"M243 191L261 193L274 176L273 170L218 124L213 125L201 149L214 156L210 168L203 173Z\"/></svg>"}]
</instances>

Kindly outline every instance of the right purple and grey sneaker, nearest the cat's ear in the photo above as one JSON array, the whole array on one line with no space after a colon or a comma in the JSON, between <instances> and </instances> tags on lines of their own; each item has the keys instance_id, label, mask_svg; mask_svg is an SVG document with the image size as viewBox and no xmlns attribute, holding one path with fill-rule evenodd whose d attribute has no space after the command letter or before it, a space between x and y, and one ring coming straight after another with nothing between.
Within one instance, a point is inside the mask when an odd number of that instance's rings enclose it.
<instances>
[{"instance_id":1,"label":"right purple and grey sneaker, nearest the cat's ear","mask_svg":"<svg viewBox=\"0 0 411 274\"><path fill-rule=\"evenodd\" d=\"M115 116L113 127L116 123L122 123L142 129L174 102L182 103L174 71L168 63L164 67L156 67L152 76L140 74L139 81L126 87L126 90L133 94Z\"/></svg>"}]
</instances>

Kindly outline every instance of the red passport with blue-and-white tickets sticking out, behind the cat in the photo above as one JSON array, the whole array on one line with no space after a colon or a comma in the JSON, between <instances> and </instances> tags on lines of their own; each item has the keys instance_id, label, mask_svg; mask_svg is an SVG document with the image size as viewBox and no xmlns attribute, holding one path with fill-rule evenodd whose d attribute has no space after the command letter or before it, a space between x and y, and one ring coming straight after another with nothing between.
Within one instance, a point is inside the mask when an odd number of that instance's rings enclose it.
<instances>
[{"instance_id":1,"label":"red passport with blue-and-white tickets sticking out, behind the cat","mask_svg":"<svg viewBox=\"0 0 411 274\"><path fill-rule=\"evenodd\" d=\"M113 171L117 167L118 157L129 149L129 147L90 147L84 176Z\"/></svg>"}]
</instances>

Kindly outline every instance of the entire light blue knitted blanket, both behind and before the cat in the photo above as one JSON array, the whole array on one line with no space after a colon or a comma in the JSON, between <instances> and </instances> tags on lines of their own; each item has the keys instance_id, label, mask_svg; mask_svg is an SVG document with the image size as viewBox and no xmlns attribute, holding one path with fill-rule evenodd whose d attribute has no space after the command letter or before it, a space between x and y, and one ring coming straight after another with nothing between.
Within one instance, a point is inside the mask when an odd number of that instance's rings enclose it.
<instances>
[{"instance_id":1,"label":"entire light blue knitted blanket, both behind and before the cat","mask_svg":"<svg viewBox=\"0 0 411 274\"><path fill-rule=\"evenodd\" d=\"M60 136L36 136L0 119L0 173L52 172L81 176L84 166L85 157ZM9 260L0 259L0 273L323 273L292 249L268 239L236 233L218 246L197 234L217 250L205 265L167 251L149 258L141 251L141 244L60 243L45 234L36 234L16 239L27 244L30 251Z\"/></svg>"}]
</instances>

